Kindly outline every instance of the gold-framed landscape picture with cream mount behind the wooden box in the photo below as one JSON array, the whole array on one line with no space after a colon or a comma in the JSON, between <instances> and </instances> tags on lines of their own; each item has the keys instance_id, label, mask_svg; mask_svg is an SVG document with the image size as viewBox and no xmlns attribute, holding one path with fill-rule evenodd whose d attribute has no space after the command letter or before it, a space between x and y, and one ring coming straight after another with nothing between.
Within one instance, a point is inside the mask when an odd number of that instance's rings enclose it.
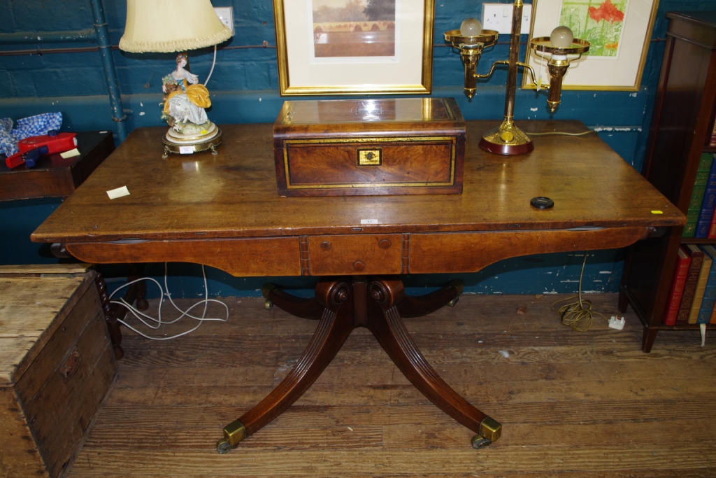
<instances>
[{"instance_id":1,"label":"gold-framed landscape picture with cream mount behind the wooden box","mask_svg":"<svg viewBox=\"0 0 716 478\"><path fill-rule=\"evenodd\" d=\"M317 5L369 1L274 0L281 96L430 95L434 0L396 2L392 24L316 21Z\"/></svg>"}]
</instances>

